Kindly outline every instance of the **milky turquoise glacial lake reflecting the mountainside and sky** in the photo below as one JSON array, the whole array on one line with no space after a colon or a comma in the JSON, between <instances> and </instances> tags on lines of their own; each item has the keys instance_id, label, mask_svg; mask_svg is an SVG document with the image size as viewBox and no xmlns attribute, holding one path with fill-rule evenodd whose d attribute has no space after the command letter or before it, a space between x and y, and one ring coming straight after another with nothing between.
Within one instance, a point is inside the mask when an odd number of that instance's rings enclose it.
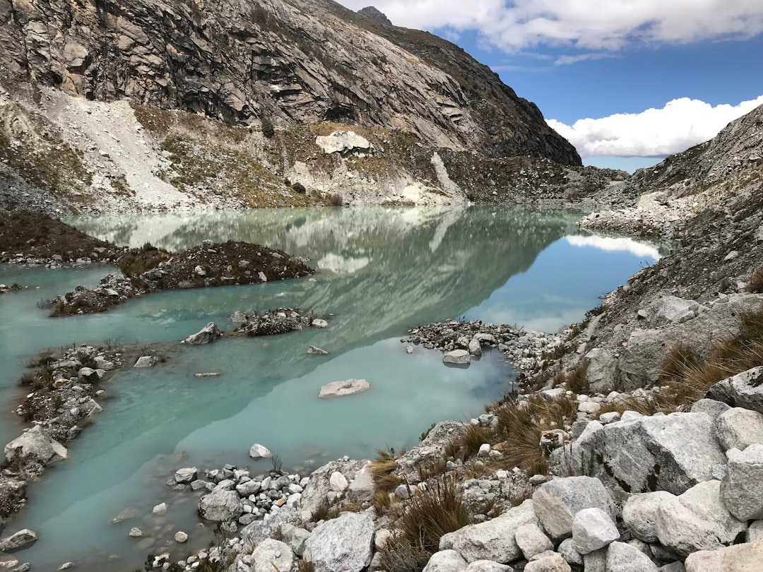
<instances>
[{"instance_id":1,"label":"milky turquoise glacial lake reflecting the mountainside and sky","mask_svg":"<svg viewBox=\"0 0 763 572\"><path fill-rule=\"evenodd\" d=\"M170 348L166 363L123 368L105 383L104 411L67 444L69 459L31 484L29 503L6 525L5 534L30 528L40 538L16 557L34 570L74 561L77 570L115 572L141 568L146 554L167 549L183 558L208 545L213 527L198 525L194 494L166 487L178 468L232 463L266 472L270 461L247 455L259 442L284 468L306 472L344 455L372 458L377 448L410 447L431 423L478 415L513 389L513 369L497 350L468 368L447 368L437 351L417 347L408 355L401 339L410 327L459 317L555 331L582 320L600 295L665 253L580 230L579 218L525 207L369 207L68 220L120 245L176 251L203 239L262 243L310 259L318 272L314 280L152 294L108 313L53 320L38 300L78 284L94 287L115 269L0 266L0 282L34 287L0 297L3 444L21 432L17 380L40 350L107 339ZM276 307L330 315L330 327L178 344L210 321L232 329L235 310ZM330 353L307 355L308 345ZM202 371L221 377L195 378ZM347 378L365 378L372 390L317 399L322 385ZM162 502L166 516L151 516ZM127 508L137 516L112 524ZM139 548L128 538L133 526L155 538L153 545ZM188 533L188 544L166 544L178 530Z\"/></svg>"}]
</instances>

